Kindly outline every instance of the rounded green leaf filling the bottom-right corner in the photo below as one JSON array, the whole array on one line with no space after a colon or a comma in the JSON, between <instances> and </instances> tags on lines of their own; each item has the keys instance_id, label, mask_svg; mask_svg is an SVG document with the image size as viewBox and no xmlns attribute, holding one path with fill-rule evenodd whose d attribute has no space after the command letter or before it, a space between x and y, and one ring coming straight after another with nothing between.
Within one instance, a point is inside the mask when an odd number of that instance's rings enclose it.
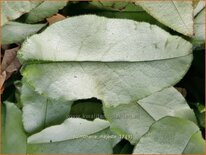
<instances>
[{"instance_id":1,"label":"rounded green leaf filling the bottom-right corner","mask_svg":"<svg viewBox=\"0 0 206 155\"><path fill-rule=\"evenodd\" d=\"M165 117L154 123L140 139L134 154L204 154L198 127L187 120Z\"/></svg>"}]
</instances>

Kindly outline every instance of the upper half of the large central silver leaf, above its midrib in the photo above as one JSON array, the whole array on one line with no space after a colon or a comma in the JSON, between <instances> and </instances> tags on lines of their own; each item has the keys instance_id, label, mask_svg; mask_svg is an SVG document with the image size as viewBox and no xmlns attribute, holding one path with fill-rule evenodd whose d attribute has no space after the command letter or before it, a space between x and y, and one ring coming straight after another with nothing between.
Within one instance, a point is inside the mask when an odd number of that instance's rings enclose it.
<instances>
[{"instance_id":1,"label":"upper half of the large central silver leaf, above its midrib","mask_svg":"<svg viewBox=\"0 0 206 155\"><path fill-rule=\"evenodd\" d=\"M84 15L55 23L32 36L20 54L27 61L140 62L186 56L191 48L186 40L155 25Z\"/></svg>"}]
</instances>

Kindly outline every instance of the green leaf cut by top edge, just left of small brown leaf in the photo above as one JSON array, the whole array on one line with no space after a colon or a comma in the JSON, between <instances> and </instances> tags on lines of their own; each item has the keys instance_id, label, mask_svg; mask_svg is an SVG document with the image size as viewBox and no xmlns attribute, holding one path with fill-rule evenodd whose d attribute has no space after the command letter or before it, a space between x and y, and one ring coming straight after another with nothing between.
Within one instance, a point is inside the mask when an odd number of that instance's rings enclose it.
<instances>
[{"instance_id":1,"label":"green leaf cut by top edge, just left of small brown leaf","mask_svg":"<svg viewBox=\"0 0 206 155\"><path fill-rule=\"evenodd\" d=\"M67 1L44 1L25 15L26 23L36 23L51 17L66 6Z\"/></svg>"}]
</instances>

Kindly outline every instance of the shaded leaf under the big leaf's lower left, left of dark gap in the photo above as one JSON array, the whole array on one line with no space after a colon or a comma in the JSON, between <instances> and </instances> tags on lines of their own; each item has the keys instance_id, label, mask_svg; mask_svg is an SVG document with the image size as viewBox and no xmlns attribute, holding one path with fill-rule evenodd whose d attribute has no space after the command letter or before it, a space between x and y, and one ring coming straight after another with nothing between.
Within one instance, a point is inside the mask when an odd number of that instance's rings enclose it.
<instances>
[{"instance_id":1,"label":"shaded leaf under the big leaf's lower left, left of dark gap","mask_svg":"<svg viewBox=\"0 0 206 155\"><path fill-rule=\"evenodd\" d=\"M72 102L44 97L26 83L22 86L21 102L23 103L23 124L28 133L62 123L68 118L72 105Z\"/></svg>"}]
</instances>

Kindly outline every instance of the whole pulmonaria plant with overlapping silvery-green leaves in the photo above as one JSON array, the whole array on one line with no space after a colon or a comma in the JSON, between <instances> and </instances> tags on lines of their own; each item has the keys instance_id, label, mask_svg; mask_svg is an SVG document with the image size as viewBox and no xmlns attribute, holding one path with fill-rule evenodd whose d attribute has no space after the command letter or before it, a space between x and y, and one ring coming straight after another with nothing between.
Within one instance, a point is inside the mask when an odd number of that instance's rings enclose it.
<instances>
[{"instance_id":1,"label":"whole pulmonaria plant with overlapping silvery-green leaves","mask_svg":"<svg viewBox=\"0 0 206 155\"><path fill-rule=\"evenodd\" d=\"M173 86L189 70L193 47L204 43L204 4L197 11L192 1L90 2L146 18L89 14L46 29L38 23L66 4L3 3L2 41L22 43L23 76L22 108L3 106L3 153L112 154L124 139L134 154L203 154L196 116ZM75 106L79 114L90 108L103 117L71 118Z\"/></svg>"}]
</instances>

